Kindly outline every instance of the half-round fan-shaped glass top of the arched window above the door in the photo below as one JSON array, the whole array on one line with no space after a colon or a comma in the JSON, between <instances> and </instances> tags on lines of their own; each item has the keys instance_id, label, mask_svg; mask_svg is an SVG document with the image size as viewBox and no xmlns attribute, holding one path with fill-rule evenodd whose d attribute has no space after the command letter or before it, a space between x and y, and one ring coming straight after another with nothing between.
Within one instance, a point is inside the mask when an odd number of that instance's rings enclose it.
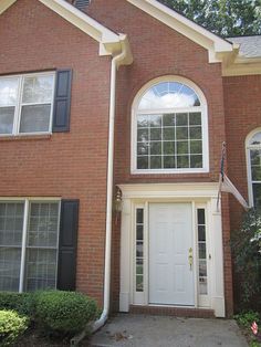
<instances>
[{"instance_id":1,"label":"half-round fan-shaped glass top of the arched window above the door","mask_svg":"<svg viewBox=\"0 0 261 347\"><path fill-rule=\"evenodd\" d=\"M194 90L178 82L161 82L143 95L138 109L166 109L192 106L200 106L199 97Z\"/></svg>"}]
</instances>

